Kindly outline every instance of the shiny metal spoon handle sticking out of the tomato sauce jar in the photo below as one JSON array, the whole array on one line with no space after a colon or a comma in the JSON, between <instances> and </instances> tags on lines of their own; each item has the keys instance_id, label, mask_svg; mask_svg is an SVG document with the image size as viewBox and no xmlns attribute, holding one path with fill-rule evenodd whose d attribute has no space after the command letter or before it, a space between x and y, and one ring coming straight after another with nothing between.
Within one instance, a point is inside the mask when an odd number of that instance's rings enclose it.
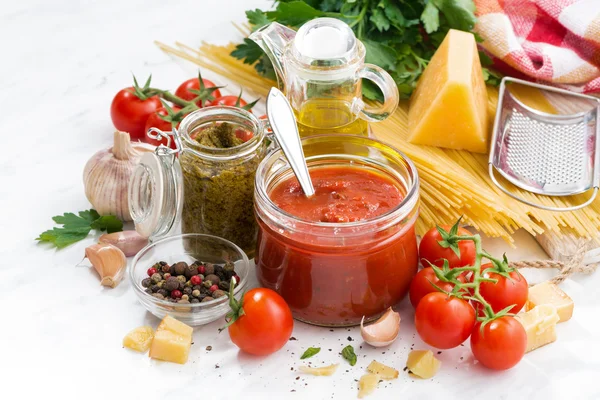
<instances>
[{"instance_id":1,"label":"shiny metal spoon handle sticking out of the tomato sauce jar","mask_svg":"<svg viewBox=\"0 0 600 400\"><path fill-rule=\"evenodd\" d=\"M306 159L304 158L304 150L302 150L302 142L296 125L296 117L292 106L285 98L284 94L277 88L271 88L267 96L267 117L271 124L271 129L285 158L287 158L296 179L302 187L302 191L306 197L311 197L315 194L315 188L308 174Z\"/></svg>"}]
</instances>

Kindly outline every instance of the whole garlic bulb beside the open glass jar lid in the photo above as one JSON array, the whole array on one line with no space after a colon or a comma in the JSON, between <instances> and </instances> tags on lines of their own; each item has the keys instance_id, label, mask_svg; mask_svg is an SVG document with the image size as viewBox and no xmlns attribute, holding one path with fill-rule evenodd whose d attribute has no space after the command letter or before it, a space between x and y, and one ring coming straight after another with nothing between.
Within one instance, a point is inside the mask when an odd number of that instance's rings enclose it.
<instances>
[{"instance_id":1,"label":"whole garlic bulb beside the open glass jar lid","mask_svg":"<svg viewBox=\"0 0 600 400\"><path fill-rule=\"evenodd\" d=\"M83 170L85 195L100 215L131 221L127 187L142 154L154 146L131 143L127 132L115 131L114 145L89 159Z\"/></svg>"}]
</instances>

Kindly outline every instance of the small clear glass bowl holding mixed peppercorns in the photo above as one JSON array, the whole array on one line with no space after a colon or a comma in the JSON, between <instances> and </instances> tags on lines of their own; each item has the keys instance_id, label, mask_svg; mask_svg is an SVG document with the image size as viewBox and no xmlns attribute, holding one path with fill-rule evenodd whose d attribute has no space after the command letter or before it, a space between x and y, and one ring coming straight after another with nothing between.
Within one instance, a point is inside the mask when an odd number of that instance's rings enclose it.
<instances>
[{"instance_id":1,"label":"small clear glass bowl holding mixed peppercorns","mask_svg":"<svg viewBox=\"0 0 600 400\"><path fill-rule=\"evenodd\" d=\"M236 281L234 294L239 298L248 270L248 257L232 242L191 233L146 246L134 258L129 277L152 314L169 314L198 326L227 314L231 280Z\"/></svg>"}]
</instances>

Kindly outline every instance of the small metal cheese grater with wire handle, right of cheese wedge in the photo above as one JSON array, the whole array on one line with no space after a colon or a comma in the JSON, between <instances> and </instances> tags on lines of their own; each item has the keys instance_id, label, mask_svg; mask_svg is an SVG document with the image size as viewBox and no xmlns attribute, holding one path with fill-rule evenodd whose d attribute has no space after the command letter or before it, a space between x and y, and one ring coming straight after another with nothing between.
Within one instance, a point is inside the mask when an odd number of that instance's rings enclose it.
<instances>
[{"instance_id":1,"label":"small metal cheese grater with wire handle, right of cheese wedge","mask_svg":"<svg viewBox=\"0 0 600 400\"><path fill-rule=\"evenodd\" d=\"M520 102L510 86L532 86L562 97L567 104L581 104L584 111L553 115ZM590 204L598 193L598 116L600 100L555 87L520 79L502 79L490 148L489 173L496 186L528 205L550 211L572 211ZM549 207L524 199L496 178L546 196L572 196L592 190L584 202L570 207Z\"/></svg>"}]
</instances>

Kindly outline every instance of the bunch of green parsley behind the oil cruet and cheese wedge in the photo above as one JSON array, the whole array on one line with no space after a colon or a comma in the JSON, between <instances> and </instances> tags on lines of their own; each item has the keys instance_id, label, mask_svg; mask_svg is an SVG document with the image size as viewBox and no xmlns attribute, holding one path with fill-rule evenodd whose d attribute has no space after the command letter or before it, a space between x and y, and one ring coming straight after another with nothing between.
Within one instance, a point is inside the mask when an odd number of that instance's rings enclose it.
<instances>
[{"instance_id":1,"label":"bunch of green parsley behind the oil cruet and cheese wedge","mask_svg":"<svg viewBox=\"0 0 600 400\"><path fill-rule=\"evenodd\" d=\"M476 22L473 0L276 0L275 3L272 11L246 11L253 30L272 21L297 28L317 17L341 19L364 43L366 62L387 70L404 98L414 90L448 30L470 32ZM252 40L244 39L231 55L255 64L259 73L275 79L270 61ZM481 61L484 67L491 64L483 53ZM499 75L487 68L483 68L483 75L487 83L499 83ZM379 89L368 81L363 81L363 95L372 100L382 99Z\"/></svg>"}]
</instances>

